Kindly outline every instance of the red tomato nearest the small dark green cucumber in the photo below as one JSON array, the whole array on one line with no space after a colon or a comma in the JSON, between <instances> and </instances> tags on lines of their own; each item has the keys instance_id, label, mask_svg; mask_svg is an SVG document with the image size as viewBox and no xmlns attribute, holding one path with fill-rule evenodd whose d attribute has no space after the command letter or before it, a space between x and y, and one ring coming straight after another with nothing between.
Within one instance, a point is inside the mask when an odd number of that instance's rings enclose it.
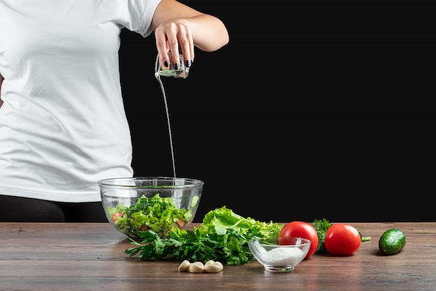
<instances>
[{"instance_id":1,"label":"red tomato nearest the small dark green cucumber","mask_svg":"<svg viewBox=\"0 0 436 291\"><path fill-rule=\"evenodd\" d=\"M359 231L347 223L334 223L325 233L324 245L332 255L352 255L360 248Z\"/></svg>"}]
</instances>

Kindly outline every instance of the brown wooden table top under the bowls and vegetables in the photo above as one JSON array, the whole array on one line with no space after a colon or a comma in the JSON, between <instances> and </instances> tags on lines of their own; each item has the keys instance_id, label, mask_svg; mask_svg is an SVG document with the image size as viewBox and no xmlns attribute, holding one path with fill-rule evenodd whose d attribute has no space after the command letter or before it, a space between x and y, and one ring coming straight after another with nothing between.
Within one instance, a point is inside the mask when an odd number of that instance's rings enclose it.
<instances>
[{"instance_id":1,"label":"brown wooden table top under the bowls and vegetables","mask_svg":"<svg viewBox=\"0 0 436 291\"><path fill-rule=\"evenodd\" d=\"M109 223L0 223L0 290L436 290L436 222L351 224L372 239L350 257L316 254L287 273L250 262L191 274L130 258ZM382 256L378 239L394 227L406 246Z\"/></svg>"}]
</instances>

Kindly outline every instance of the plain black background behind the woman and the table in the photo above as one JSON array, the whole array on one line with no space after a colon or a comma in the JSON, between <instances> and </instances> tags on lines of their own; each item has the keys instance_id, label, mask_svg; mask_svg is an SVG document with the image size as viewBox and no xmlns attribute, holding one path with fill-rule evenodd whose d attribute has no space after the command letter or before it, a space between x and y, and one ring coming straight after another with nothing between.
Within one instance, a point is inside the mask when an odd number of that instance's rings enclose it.
<instances>
[{"instance_id":1,"label":"plain black background behind the woman and the table","mask_svg":"<svg viewBox=\"0 0 436 291\"><path fill-rule=\"evenodd\" d=\"M184 1L230 43L163 78L178 177L205 181L195 221L435 221L436 31L430 1ZM413 3L413 4L411 4ZM135 176L172 176L157 50L123 31Z\"/></svg>"}]
</instances>

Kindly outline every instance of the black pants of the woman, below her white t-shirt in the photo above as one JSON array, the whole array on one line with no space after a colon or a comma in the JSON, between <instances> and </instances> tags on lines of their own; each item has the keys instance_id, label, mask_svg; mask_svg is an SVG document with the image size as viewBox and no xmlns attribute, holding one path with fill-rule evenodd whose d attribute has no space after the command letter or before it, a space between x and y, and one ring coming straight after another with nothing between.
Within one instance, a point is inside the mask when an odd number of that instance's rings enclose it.
<instances>
[{"instance_id":1,"label":"black pants of the woman, below her white t-shirt","mask_svg":"<svg viewBox=\"0 0 436 291\"><path fill-rule=\"evenodd\" d=\"M0 195L1 222L107 223L102 202L53 202Z\"/></svg>"}]
</instances>

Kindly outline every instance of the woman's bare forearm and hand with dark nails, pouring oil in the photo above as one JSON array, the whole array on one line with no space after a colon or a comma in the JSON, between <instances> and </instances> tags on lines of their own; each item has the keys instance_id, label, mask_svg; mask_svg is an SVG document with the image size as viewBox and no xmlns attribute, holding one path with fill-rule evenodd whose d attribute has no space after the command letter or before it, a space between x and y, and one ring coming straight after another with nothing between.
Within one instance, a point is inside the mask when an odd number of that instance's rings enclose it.
<instances>
[{"instance_id":1,"label":"woman's bare forearm and hand with dark nails, pouring oil","mask_svg":"<svg viewBox=\"0 0 436 291\"><path fill-rule=\"evenodd\" d=\"M162 68L168 68L169 55L178 60L179 47L185 66L194 61L194 47L205 52L219 50L228 43L228 31L217 17L201 13L175 0L162 0L151 27ZM168 62L168 63L166 63ZM176 61L178 62L178 61Z\"/></svg>"}]
</instances>

